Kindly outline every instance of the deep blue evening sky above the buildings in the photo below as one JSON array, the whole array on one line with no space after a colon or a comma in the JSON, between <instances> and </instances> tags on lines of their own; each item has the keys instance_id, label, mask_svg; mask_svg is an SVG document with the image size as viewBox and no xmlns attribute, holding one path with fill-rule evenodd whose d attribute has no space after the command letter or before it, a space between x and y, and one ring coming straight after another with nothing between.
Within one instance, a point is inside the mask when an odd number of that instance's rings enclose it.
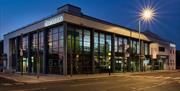
<instances>
[{"instance_id":1,"label":"deep blue evening sky above the buildings","mask_svg":"<svg viewBox=\"0 0 180 91\"><path fill-rule=\"evenodd\" d=\"M86 15L137 29L138 11L144 6L156 9L155 20L143 22L162 38L173 41L180 49L180 0L0 0L0 38L24 25L56 12L64 4L82 8Z\"/></svg>"}]
</instances>

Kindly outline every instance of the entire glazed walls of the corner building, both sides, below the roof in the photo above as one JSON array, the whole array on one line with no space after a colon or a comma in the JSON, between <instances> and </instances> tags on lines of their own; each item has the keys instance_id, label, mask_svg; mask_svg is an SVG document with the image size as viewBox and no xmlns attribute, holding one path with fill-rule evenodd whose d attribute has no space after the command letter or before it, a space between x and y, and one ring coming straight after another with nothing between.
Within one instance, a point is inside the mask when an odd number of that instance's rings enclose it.
<instances>
[{"instance_id":1,"label":"entire glazed walls of the corner building, both sides, below the roof","mask_svg":"<svg viewBox=\"0 0 180 91\"><path fill-rule=\"evenodd\" d=\"M64 40L67 40L68 74L101 73L112 68L115 68L115 72L140 71L141 48L138 40L92 30L67 24L67 36L64 35L64 26L55 26L23 35L23 38L14 38L11 41L12 58L16 59L13 61L14 68L19 72L37 73L39 69L43 73L46 69L48 74L63 74L63 63L66 61ZM23 61L20 56L21 46ZM144 55L148 56L149 44L144 43L143 48ZM45 53L48 65L45 65ZM143 66L149 64L148 57L145 57Z\"/></svg>"}]
</instances>

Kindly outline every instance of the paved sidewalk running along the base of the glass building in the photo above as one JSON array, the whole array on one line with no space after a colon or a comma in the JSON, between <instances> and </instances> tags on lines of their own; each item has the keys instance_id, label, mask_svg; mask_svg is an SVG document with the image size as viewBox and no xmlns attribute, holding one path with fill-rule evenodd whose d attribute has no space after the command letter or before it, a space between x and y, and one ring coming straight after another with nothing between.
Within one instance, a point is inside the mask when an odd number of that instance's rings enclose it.
<instances>
[{"instance_id":1,"label":"paved sidewalk running along the base of the glass building","mask_svg":"<svg viewBox=\"0 0 180 91\"><path fill-rule=\"evenodd\" d=\"M154 72L167 72L167 71L154 71ZM153 72L153 73L154 73ZM171 71L172 72L172 71ZM111 73L110 76L131 76L133 74L144 74L144 73L152 73L152 72L126 72L126 73ZM65 81L65 80L77 80L77 79L88 79L88 78L102 78L109 77L108 73L100 73L100 74L82 74L82 75L70 75L62 76L62 75L41 75L39 79L36 75L21 75L21 74L5 74L0 73L0 77L14 80L17 82L23 82L28 84L33 83L43 83L43 82L53 82L53 81Z\"/></svg>"}]
</instances>

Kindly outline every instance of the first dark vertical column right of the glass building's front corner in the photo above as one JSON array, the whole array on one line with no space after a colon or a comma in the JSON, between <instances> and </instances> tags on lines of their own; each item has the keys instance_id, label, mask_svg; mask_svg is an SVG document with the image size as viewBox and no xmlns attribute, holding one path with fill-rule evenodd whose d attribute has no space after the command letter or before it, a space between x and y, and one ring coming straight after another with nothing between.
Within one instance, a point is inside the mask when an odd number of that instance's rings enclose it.
<instances>
[{"instance_id":1,"label":"first dark vertical column right of the glass building's front corner","mask_svg":"<svg viewBox=\"0 0 180 91\"><path fill-rule=\"evenodd\" d=\"M94 62L94 29L91 31L91 60L92 60L92 73L95 73L95 62Z\"/></svg>"}]
</instances>

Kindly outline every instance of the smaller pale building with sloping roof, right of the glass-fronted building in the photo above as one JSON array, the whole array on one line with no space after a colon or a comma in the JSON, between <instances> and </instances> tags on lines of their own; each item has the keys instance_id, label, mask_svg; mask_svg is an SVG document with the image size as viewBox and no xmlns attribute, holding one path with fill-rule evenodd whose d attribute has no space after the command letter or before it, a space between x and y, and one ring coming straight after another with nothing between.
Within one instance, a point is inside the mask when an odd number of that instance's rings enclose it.
<instances>
[{"instance_id":1,"label":"smaller pale building with sloping roof, right of the glass-fronted building","mask_svg":"<svg viewBox=\"0 0 180 91\"><path fill-rule=\"evenodd\" d=\"M152 41L150 44L150 55L152 60L154 60L154 70L175 70L176 45L150 31L145 31L144 34Z\"/></svg>"}]
</instances>

